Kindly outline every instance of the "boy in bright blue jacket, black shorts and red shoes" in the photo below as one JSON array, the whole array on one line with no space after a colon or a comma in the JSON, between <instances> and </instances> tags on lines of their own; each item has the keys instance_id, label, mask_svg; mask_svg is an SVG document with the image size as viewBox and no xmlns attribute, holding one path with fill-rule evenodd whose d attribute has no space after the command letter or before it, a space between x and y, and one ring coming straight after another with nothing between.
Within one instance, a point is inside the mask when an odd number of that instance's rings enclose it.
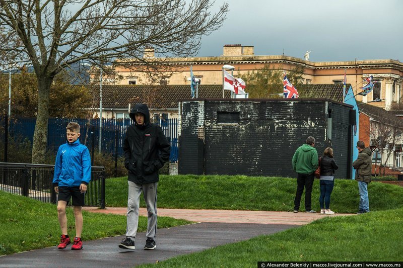
<instances>
[{"instance_id":1,"label":"boy in bright blue jacket, black shorts and red shoes","mask_svg":"<svg viewBox=\"0 0 403 268\"><path fill-rule=\"evenodd\" d=\"M57 218L61 236L58 249L70 244L67 233L66 206L72 198L76 219L76 237L72 249L82 249L81 231L83 230L82 206L85 205L85 192L91 180L91 158L87 146L80 144L80 125L70 122L66 127L67 141L60 145L54 165L53 187L57 195Z\"/></svg>"}]
</instances>

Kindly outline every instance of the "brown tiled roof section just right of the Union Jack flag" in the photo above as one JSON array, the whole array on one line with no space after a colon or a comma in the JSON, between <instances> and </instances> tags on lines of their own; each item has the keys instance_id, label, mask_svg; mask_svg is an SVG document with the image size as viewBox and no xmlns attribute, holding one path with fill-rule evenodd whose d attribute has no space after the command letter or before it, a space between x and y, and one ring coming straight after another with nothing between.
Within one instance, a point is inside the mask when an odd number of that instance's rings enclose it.
<instances>
[{"instance_id":1,"label":"brown tiled roof section just right of the Union Jack flag","mask_svg":"<svg viewBox=\"0 0 403 268\"><path fill-rule=\"evenodd\" d=\"M351 84L346 84L350 88ZM299 98L330 99L343 102L343 84L303 84L298 88Z\"/></svg>"}]
</instances>

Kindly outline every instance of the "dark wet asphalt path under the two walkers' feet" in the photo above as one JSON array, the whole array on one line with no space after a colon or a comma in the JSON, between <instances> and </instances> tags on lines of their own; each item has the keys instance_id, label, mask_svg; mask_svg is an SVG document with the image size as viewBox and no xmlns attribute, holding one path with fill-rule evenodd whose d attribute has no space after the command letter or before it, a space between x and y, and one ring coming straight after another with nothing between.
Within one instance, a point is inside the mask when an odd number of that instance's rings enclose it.
<instances>
[{"instance_id":1,"label":"dark wet asphalt path under the two walkers' feet","mask_svg":"<svg viewBox=\"0 0 403 268\"><path fill-rule=\"evenodd\" d=\"M85 241L83 250L43 248L0 257L0 267L132 267L218 245L273 234L295 225L196 223L158 229L157 248L144 250L145 233L138 233L135 250L118 248L123 236ZM253 263L255 265L255 263Z\"/></svg>"}]
</instances>

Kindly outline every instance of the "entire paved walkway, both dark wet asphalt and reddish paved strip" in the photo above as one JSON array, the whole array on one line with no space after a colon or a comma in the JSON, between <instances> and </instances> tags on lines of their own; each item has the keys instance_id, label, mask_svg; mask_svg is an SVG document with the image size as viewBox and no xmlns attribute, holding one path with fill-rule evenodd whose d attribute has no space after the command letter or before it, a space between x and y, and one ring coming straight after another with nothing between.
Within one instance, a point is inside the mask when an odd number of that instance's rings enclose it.
<instances>
[{"instance_id":1,"label":"entire paved walkway, both dark wet asphalt and reddish paved strip","mask_svg":"<svg viewBox=\"0 0 403 268\"><path fill-rule=\"evenodd\" d=\"M126 208L98 210L97 213L125 215ZM146 209L140 209L147 215ZM0 267L132 267L198 252L218 245L247 240L262 234L273 234L307 224L322 217L319 213L292 213L269 211L177 210L158 209L159 216L187 219L198 223L158 229L157 248L144 250L145 233L138 233L136 250L118 248L124 236L84 241L83 250L64 250L56 247L31 250L0 257ZM253 264L254 265L254 264Z\"/></svg>"}]
</instances>

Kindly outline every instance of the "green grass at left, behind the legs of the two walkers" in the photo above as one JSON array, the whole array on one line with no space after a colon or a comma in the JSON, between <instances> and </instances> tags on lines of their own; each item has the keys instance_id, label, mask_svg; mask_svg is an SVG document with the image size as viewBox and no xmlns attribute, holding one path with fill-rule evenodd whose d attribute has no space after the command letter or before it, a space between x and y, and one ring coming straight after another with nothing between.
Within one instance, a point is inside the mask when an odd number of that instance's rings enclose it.
<instances>
[{"instance_id":1,"label":"green grass at left, behind the legs of the two walkers","mask_svg":"<svg viewBox=\"0 0 403 268\"><path fill-rule=\"evenodd\" d=\"M68 230L75 235L73 209L68 208ZM83 240L123 235L126 217L83 211ZM158 227L190 223L158 217ZM140 217L139 232L147 230L147 217ZM56 206L0 191L0 255L55 246L60 241Z\"/></svg>"}]
</instances>

